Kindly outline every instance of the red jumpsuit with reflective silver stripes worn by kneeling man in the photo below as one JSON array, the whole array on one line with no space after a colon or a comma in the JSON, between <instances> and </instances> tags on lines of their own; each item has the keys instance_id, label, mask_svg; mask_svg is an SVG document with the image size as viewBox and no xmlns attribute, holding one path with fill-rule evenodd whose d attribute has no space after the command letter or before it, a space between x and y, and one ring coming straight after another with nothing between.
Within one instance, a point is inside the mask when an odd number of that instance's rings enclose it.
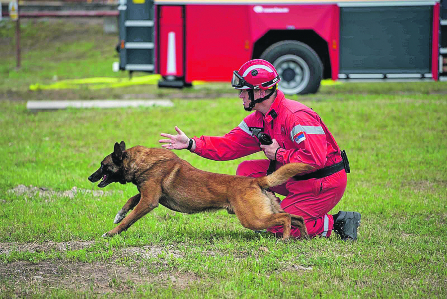
<instances>
[{"instance_id":1,"label":"red jumpsuit with reflective silver stripes worn by kneeling man","mask_svg":"<svg viewBox=\"0 0 447 299\"><path fill-rule=\"evenodd\" d=\"M306 163L320 169L342 161L334 137L318 114L298 101L285 99L279 90L265 116L255 111L222 137L194 137L194 153L204 158L226 161L259 152L259 141L251 132L254 128L263 129L280 145L276 154L277 169L292 162ZM236 175L265 176L268 167L268 159L244 161L237 167ZM290 214L304 218L310 237L329 237L334 220L328 212L342 198L346 182L346 172L341 170L322 179L297 181L291 178L285 184L272 188L272 191L286 196L281 201L281 207ZM270 227L268 231L278 236L283 232L281 226ZM291 235L298 238L298 228L292 227Z\"/></svg>"}]
</instances>

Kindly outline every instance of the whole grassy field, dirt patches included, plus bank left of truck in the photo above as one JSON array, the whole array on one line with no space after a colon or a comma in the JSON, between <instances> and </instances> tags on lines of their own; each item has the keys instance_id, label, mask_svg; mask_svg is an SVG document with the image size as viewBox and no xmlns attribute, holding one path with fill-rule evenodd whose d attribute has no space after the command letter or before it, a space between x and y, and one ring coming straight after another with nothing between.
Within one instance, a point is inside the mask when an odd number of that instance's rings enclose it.
<instances>
[{"instance_id":1,"label":"whole grassy field, dirt patches included, plus bank left of truck","mask_svg":"<svg viewBox=\"0 0 447 299\"><path fill-rule=\"evenodd\" d=\"M125 74L111 72L116 36L102 34L100 24L33 21L24 28L22 70L14 70L13 44L0 43L6 53L0 61L0 298L447 296L446 83L342 84L292 97L320 114L349 155L352 173L333 212L362 213L358 242L276 243L226 211L186 215L162 206L122 235L102 239L137 193L133 185L113 184L98 194L87 180L116 141L158 146L159 133L173 133L174 125L188 136L222 135L247 114L222 84L181 92L154 86L31 92L30 84L50 83L54 75ZM12 29L1 24L1 38ZM38 113L25 107L30 99L129 97L172 98L175 106ZM225 174L244 160L176 153ZM246 159L256 158L263 155Z\"/></svg>"}]
</instances>

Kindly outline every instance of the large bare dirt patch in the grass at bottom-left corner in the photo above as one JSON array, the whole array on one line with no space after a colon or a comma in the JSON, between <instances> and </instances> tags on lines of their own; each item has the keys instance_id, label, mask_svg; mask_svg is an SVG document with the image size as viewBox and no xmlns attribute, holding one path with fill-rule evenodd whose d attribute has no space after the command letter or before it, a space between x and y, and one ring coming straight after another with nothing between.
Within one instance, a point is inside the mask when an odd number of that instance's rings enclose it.
<instances>
[{"instance_id":1,"label":"large bare dirt patch in the grass at bottom-left corner","mask_svg":"<svg viewBox=\"0 0 447 299\"><path fill-rule=\"evenodd\" d=\"M150 273L149 268L128 268L113 264L85 264L44 261L38 264L13 262L4 264L0 280L22 285L24 290L34 288L63 288L95 293L129 292L143 283L157 283L184 289L199 278L191 273ZM16 290L20 292L20 290Z\"/></svg>"}]
</instances>

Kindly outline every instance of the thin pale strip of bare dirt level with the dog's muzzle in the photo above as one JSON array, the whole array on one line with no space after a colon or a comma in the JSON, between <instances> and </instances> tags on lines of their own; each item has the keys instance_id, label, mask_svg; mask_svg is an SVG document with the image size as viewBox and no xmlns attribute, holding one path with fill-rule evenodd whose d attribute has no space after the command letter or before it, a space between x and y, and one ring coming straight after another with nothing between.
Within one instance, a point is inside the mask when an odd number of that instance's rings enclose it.
<instances>
[{"instance_id":1,"label":"thin pale strip of bare dirt level with the dog's muzzle","mask_svg":"<svg viewBox=\"0 0 447 299\"><path fill-rule=\"evenodd\" d=\"M29 185L26 187L25 185L18 185L13 189L9 189L8 193L12 193L17 196L24 196L27 198L41 197L41 198L51 198L51 197L68 197L74 198L76 194L91 194L94 197L101 197L104 195L110 195L114 192L111 191L102 191L102 190L88 190L88 189L79 189L74 186L71 190L66 191L54 191L50 188L45 187L35 187L33 185ZM118 193L123 193L122 191L118 191Z\"/></svg>"}]
</instances>

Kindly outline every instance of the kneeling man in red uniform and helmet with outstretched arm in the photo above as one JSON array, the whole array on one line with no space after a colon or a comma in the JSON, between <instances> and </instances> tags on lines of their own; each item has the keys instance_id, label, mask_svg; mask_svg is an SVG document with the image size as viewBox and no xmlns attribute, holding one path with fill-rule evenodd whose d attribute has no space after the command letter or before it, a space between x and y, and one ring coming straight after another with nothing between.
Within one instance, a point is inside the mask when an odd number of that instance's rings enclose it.
<instances>
[{"instance_id":1,"label":"kneeling man in red uniform and helmet with outstretched arm","mask_svg":"<svg viewBox=\"0 0 447 299\"><path fill-rule=\"evenodd\" d=\"M177 135L162 133L162 147L188 149L204 158L226 161L244 157L261 150L268 160L244 161L236 175L260 177L287 163L306 163L316 171L291 178L272 192L286 196L281 207L290 214L304 218L310 237L329 237L334 230L343 240L357 240L358 212L328 212L339 202L346 189L347 158L321 118L311 108L298 101L288 100L276 89L280 81L269 62L255 59L234 71L232 86L241 90L239 98L244 109L255 112L222 137L188 138L177 126ZM273 138L269 145L260 145L259 132ZM343 161L345 160L345 161ZM273 162L272 162L273 161ZM279 200L279 199L278 199ZM282 228L270 227L269 232L282 235ZM299 238L292 227L291 235Z\"/></svg>"}]
</instances>

